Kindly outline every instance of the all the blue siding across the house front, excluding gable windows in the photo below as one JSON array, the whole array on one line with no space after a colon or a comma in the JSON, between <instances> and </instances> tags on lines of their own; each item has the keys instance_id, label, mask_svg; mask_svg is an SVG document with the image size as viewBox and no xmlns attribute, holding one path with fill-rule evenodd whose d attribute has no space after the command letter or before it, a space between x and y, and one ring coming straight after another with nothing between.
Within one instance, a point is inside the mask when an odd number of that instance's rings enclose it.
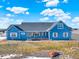
<instances>
[{"instance_id":1,"label":"all the blue siding across the house front, excluding gable windows","mask_svg":"<svg viewBox=\"0 0 79 59\"><path fill-rule=\"evenodd\" d=\"M63 29L58 29L57 25L58 23L62 23L64 25ZM30 40L30 39L49 39L49 40L69 40L71 39L71 28L66 26L63 22L58 22L54 27L52 27L48 32L39 32L40 35L35 35L35 36L29 36L29 32L24 32L20 28L17 28L14 25L11 25L7 29L7 40ZM11 37L10 33L11 32L16 32L17 37ZM58 37L53 37L53 33L56 32L58 33ZM63 37L63 33L68 32L68 37Z\"/></svg>"}]
</instances>

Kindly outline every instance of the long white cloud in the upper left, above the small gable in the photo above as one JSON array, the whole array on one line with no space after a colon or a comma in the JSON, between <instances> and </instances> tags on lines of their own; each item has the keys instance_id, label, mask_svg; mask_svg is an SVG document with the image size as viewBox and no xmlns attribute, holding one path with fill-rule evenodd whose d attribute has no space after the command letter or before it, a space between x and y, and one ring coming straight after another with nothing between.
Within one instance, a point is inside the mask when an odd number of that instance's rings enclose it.
<instances>
[{"instance_id":1,"label":"long white cloud in the upper left, above the small gable","mask_svg":"<svg viewBox=\"0 0 79 59\"><path fill-rule=\"evenodd\" d=\"M26 12L28 12L28 8L24 7L7 7L6 10L14 12L15 14L25 14Z\"/></svg>"}]
</instances>

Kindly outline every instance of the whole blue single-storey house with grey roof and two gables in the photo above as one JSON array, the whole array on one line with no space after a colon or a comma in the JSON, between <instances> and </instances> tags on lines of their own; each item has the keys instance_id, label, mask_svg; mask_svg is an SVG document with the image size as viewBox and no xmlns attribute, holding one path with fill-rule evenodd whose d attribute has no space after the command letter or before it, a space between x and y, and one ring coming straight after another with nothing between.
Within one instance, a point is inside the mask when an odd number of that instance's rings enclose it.
<instances>
[{"instance_id":1,"label":"whole blue single-storey house with grey roof and two gables","mask_svg":"<svg viewBox=\"0 0 79 59\"><path fill-rule=\"evenodd\" d=\"M72 29L64 22L23 22L10 25L8 40L70 40Z\"/></svg>"}]
</instances>

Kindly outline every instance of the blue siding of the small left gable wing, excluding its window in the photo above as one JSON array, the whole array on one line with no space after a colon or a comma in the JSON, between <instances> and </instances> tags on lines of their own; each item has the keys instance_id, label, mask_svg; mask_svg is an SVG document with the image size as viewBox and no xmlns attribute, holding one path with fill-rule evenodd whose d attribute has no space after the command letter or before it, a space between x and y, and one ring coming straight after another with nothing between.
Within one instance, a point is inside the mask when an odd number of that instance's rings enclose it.
<instances>
[{"instance_id":1,"label":"blue siding of the small left gable wing, excluding its window","mask_svg":"<svg viewBox=\"0 0 79 59\"><path fill-rule=\"evenodd\" d=\"M17 33L17 37L11 37L10 33L12 32L16 32ZM20 29L16 28L15 26L10 26L6 32L7 34L7 40L26 40L26 34L22 35L23 31L21 31ZM23 32L24 33L24 32Z\"/></svg>"}]
</instances>

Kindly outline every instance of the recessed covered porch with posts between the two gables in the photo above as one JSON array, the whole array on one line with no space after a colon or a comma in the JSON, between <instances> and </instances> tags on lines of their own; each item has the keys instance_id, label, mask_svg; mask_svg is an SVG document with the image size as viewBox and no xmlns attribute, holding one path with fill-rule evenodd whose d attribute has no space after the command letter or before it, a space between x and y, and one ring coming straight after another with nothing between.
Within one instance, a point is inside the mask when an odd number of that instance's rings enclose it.
<instances>
[{"instance_id":1,"label":"recessed covered porch with posts between the two gables","mask_svg":"<svg viewBox=\"0 0 79 59\"><path fill-rule=\"evenodd\" d=\"M27 40L48 40L48 32L27 32Z\"/></svg>"}]
</instances>

